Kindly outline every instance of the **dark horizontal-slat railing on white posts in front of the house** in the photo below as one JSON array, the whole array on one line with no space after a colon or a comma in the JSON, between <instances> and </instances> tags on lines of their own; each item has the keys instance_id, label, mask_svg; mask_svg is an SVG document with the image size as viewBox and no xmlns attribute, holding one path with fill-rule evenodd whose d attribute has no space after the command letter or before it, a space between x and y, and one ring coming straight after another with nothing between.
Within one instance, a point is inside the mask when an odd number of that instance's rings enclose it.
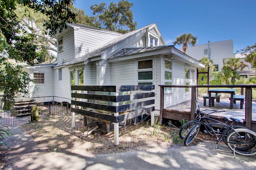
<instances>
[{"instance_id":1,"label":"dark horizontal-slat railing on white posts in front of the house","mask_svg":"<svg viewBox=\"0 0 256 170\"><path fill-rule=\"evenodd\" d=\"M155 102L154 89L154 85L71 86L71 111L108 125L113 122L118 145L118 123L153 112L155 107L150 105ZM72 123L74 127L74 117Z\"/></svg>"}]
</instances>

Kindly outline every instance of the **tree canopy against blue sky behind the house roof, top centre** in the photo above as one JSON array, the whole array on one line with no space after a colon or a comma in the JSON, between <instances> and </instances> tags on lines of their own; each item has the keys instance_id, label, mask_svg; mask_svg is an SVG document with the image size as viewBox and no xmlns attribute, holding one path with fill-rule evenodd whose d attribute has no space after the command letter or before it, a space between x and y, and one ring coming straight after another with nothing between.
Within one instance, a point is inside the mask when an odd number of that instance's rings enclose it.
<instances>
[{"instance_id":1,"label":"tree canopy against blue sky behind the house roof, top centre","mask_svg":"<svg viewBox=\"0 0 256 170\"><path fill-rule=\"evenodd\" d=\"M110 2L108 8L104 2L100 5L92 5L90 8L95 25L104 25L104 28L110 31L126 33L135 30L137 26L133 21L133 13L130 9L132 6L133 4L127 0L122 0L118 4Z\"/></svg>"}]
</instances>

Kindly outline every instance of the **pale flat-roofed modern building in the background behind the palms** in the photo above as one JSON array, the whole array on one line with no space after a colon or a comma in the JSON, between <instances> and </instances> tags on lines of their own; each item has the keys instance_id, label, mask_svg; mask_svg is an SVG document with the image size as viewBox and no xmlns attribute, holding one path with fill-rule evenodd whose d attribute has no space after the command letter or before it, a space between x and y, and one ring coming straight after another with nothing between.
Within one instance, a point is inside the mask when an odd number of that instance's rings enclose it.
<instances>
[{"instance_id":1,"label":"pale flat-roofed modern building in the background behind the palms","mask_svg":"<svg viewBox=\"0 0 256 170\"><path fill-rule=\"evenodd\" d=\"M188 47L186 54L197 60L207 57L213 61L214 71L221 71L224 60L234 57L233 39Z\"/></svg>"}]
</instances>

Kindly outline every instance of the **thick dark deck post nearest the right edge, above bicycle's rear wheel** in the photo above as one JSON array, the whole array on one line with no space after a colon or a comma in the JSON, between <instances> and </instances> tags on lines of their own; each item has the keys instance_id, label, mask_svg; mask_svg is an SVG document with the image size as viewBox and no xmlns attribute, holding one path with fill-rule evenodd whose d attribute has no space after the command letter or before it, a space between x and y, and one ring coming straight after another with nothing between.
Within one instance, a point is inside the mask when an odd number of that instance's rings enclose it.
<instances>
[{"instance_id":1,"label":"thick dark deck post nearest the right edge, above bicycle's rear wheel","mask_svg":"<svg viewBox=\"0 0 256 170\"><path fill-rule=\"evenodd\" d=\"M245 88L245 120L246 128L251 129L252 119L252 88Z\"/></svg>"}]
</instances>

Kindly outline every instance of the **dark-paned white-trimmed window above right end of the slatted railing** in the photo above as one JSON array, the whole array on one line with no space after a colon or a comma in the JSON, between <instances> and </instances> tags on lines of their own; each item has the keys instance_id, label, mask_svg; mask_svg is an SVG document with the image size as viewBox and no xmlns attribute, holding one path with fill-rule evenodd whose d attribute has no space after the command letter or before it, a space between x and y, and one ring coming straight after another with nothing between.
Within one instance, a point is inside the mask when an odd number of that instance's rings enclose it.
<instances>
[{"instance_id":1,"label":"dark-paned white-trimmed window above right end of the slatted railing","mask_svg":"<svg viewBox=\"0 0 256 170\"><path fill-rule=\"evenodd\" d=\"M137 68L138 85L153 84L153 60L138 61Z\"/></svg>"}]
</instances>

